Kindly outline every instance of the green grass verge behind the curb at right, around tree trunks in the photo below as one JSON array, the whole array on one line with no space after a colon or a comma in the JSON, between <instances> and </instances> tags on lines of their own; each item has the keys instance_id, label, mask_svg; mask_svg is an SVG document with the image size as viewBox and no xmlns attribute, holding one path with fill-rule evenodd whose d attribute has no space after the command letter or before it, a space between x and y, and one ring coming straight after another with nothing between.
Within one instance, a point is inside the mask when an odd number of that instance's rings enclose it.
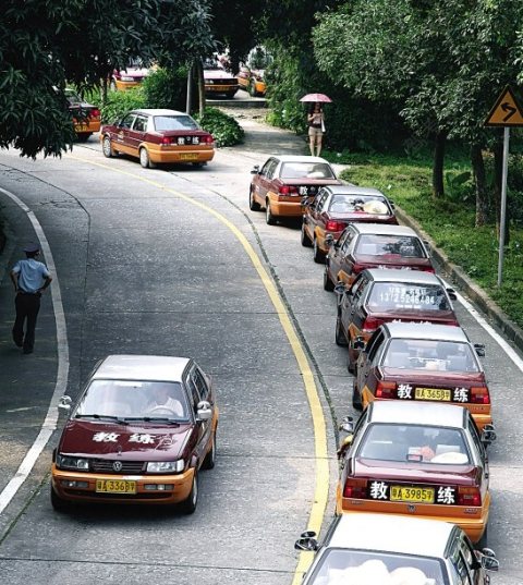
<instances>
[{"instance_id":1,"label":"green grass verge behind the curb at right, around tree trunks","mask_svg":"<svg viewBox=\"0 0 523 585\"><path fill-rule=\"evenodd\" d=\"M506 246L503 281L497 287L498 241L494 222L475 228L475 197L470 164L459 153L446 160L446 195L431 195L430 158L406 156L323 153L332 162L349 167L345 181L382 191L419 222L436 246L461 266L486 293L523 327L523 229L512 222Z\"/></svg>"}]
</instances>

